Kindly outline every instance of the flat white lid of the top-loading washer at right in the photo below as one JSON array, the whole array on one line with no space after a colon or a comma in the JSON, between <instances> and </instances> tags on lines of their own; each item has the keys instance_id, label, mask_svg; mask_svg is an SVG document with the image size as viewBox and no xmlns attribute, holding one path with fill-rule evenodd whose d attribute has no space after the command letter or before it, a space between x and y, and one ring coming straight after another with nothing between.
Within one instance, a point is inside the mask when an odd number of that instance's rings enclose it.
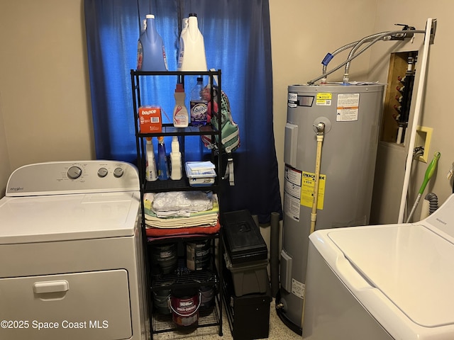
<instances>
[{"instance_id":1,"label":"flat white lid of the top-loading washer at right","mask_svg":"<svg viewBox=\"0 0 454 340\"><path fill-rule=\"evenodd\" d=\"M423 225L336 229L328 238L411 322L431 328L454 324L454 245L447 239Z\"/></svg>"}]
</instances>

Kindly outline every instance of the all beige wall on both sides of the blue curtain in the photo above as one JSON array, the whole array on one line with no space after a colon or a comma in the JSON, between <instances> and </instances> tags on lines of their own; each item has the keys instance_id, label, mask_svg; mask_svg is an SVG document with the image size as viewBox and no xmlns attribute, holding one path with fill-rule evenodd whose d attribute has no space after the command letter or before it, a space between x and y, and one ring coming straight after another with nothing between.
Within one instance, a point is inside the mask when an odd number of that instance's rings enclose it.
<instances>
[{"instance_id":1,"label":"all beige wall on both sides of the blue curtain","mask_svg":"<svg viewBox=\"0 0 454 340\"><path fill-rule=\"evenodd\" d=\"M83 1L21 0L0 5L0 196L13 169L33 162L94 159L91 104L85 47ZM409 11L411 8L411 11ZM275 140L279 180L283 179L287 86L304 84L321 73L327 52L365 35L409 23L419 29L438 18L431 47L422 124L433 128L431 154L442 154L438 174L428 186L441 201L450 193L445 178L454 161L450 138L453 118L447 91L454 22L450 0L270 0ZM391 45L377 43L355 60L351 79L386 81ZM341 59L336 57L331 64ZM330 65L331 65L330 64ZM342 71L342 70L341 70ZM338 80L341 71L330 80ZM373 79L367 78L370 71ZM445 71L447 73L445 74ZM449 73L450 72L450 73ZM448 88L449 89L449 88ZM375 195L377 222L394 222L399 205L403 152L387 145L380 154L380 195ZM419 188L426 164L416 167ZM397 179L397 183L396 182ZM378 189L377 189L378 190Z\"/></svg>"}]
</instances>

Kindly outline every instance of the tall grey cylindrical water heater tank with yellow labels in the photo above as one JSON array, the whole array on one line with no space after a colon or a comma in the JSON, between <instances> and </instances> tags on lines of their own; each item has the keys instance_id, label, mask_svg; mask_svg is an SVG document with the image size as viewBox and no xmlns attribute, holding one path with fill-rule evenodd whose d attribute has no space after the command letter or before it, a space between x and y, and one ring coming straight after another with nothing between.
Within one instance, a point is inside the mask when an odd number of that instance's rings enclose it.
<instances>
[{"instance_id":1,"label":"tall grey cylindrical water heater tank with yellow labels","mask_svg":"<svg viewBox=\"0 0 454 340\"><path fill-rule=\"evenodd\" d=\"M278 302L281 319L301 329L317 158L315 125L325 126L316 229L367 225L384 84L294 85L288 91Z\"/></svg>"}]
</instances>

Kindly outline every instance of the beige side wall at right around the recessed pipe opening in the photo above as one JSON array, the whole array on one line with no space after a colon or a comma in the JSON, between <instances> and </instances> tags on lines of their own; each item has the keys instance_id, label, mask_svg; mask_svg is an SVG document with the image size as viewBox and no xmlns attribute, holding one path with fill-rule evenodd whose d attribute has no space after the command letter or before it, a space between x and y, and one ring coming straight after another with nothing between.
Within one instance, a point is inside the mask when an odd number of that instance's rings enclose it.
<instances>
[{"instance_id":1,"label":"beige side wall at right around the recessed pipe opening","mask_svg":"<svg viewBox=\"0 0 454 340\"><path fill-rule=\"evenodd\" d=\"M446 178L446 174L454 161L454 142L452 130L454 125L454 115L450 108L449 84L453 75L446 62L449 56L453 55L454 47L450 42L454 32L454 21L451 13L454 3L449 0L435 1L391 1L380 0L377 10L376 30L387 29L392 23L408 23L418 29L425 29L427 18L437 18L435 43L431 45L428 57L427 81L424 96L422 98L422 111L419 125L433 128L431 147L428 150L429 162L435 152L441 152L436 174L432 177L426 187L423 196L428 192L436 193L439 203L452 193L453 181ZM411 11L409 8L411 7ZM392 8L392 11L389 11ZM421 36L419 36L421 39ZM416 39L417 40L417 39ZM414 45L418 45L418 42ZM422 44L422 42L419 42ZM407 44L410 45L410 44ZM415 46L416 47L416 46ZM411 46L402 48L413 50ZM372 56L375 59L384 55L385 47L378 46L373 50ZM448 59L446 59L448 57ZM374 61L372 61L374 63ZM380 70L375 70L379 74ZM416 79L418 80L418 79ZM377 158L377 183L375 183L374 200L372 201L372 217L375 222L392 223L397 221L399 215L399 205L402 196L402 183L406 148L409 139L406 139L404 149L382 143L379 147L379 157ZM410 176L410 200L409 205L413 205L416 194L421 187L423 176L427 169L427 164L421 162L413 163L413 171ZM419 205L421 208L421 204ZM420 209L415 213L415 219L420 216Z\"/></svg>"}]
</instances>

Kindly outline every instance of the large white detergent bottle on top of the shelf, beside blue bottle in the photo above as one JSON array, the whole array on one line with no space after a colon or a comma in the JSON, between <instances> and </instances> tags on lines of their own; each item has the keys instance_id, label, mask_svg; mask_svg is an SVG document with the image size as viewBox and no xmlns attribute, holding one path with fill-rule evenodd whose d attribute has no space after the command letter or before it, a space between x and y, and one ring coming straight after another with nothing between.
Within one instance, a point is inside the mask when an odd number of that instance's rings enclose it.
<instances>
[{"instance_id":1,"label":"large white detergent bottle on top of the shelf, beside blue bottle","mask_svg":"<svg viewBox=\"0 0 454 340\"><path fill-rule=\"evenodd\" d=\"M187 29L179 38L178 71L206 71L204 36L199 30L196 13L190 13Z\"/></svg>"}]
</instances>

